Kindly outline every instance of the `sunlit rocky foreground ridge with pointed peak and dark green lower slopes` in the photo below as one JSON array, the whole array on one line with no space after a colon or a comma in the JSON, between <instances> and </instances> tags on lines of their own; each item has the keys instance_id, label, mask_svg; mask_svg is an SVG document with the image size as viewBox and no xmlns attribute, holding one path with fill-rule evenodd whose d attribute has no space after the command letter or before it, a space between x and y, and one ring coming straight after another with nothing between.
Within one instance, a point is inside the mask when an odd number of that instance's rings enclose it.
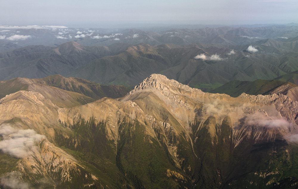
<instances>
[{"instance_id":1,"label":"sunlit rocky foreground ridge with pointed peak and dark green lower slopes","mask_svg":"<svg viewBox=\"0 0 298 189\"><path fill-rule=\"evenodd\" d=\"M21 89L0 100L2 186L274 188L298 177L298 104L283 94L233 98L152 74L120 99L54 99Z\"/></svg>"}]
</instances>

